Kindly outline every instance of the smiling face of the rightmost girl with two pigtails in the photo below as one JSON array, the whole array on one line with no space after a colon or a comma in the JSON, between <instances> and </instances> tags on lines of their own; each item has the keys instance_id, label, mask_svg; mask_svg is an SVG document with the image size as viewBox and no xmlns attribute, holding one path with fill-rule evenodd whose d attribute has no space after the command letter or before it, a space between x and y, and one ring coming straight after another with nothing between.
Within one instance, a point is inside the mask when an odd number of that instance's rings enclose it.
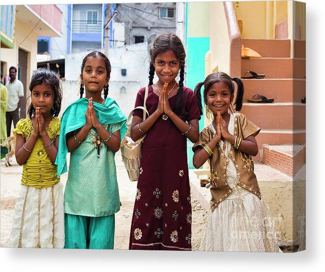
<instances>
[{"instance_id":1,"label":"smiling face of the rightmost girl with two pigtails","mask_svg":"<svg viewBox=\"0 0 325 272\"><path fill-rule=\"evenodd\" d=\"M221 115L228 112L232 99L229 87L223 81L214 83L207 91L207 106L214 115L218 111Z\"/></svg>"}]
</instances>

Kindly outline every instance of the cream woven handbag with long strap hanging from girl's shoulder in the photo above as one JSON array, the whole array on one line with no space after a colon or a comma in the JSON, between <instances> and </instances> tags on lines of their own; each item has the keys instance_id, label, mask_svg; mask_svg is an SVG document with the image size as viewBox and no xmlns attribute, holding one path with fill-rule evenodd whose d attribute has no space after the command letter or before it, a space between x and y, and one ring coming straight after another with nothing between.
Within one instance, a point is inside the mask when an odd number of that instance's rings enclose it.
<instances>
[{"instance_id":1,"label":"cream woven handbag with long strap hanging from girl's shoulder","mask_svg":"<svg viewBox=\"0 0 325 272\"><path fill-rule=\"evenodd\" d=\"M146 135L142 136L136 142L133 142L131 139L131 122L132 122L132 114L135 110L141 109L143 110L143 121L146 120L146 114L149 113L146 107L146 100L148 97L148 87L146 88L145 99L144 99L144 106L143 107L136 107L134 108L126 121L127 124L127 131L123 140L121 141L121 153L122 153L122 160L124 162L125 169L127 174L129 175L130 181L138 181L139 178L139 169L140 169L140 162L141 162L141 150L142 150L142 143L145 139Z\"/></svg>"}]
</instances>

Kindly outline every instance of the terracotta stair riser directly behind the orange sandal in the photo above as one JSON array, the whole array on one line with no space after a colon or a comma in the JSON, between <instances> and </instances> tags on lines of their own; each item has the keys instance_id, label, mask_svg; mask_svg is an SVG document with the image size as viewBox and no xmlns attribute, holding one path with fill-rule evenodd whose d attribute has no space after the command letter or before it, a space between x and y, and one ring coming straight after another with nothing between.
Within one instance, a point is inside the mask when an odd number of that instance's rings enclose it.
<instances>
[{"instance_id":1,"label":"terracotta stair riser directly behind the orange sandal","mask_svg":"<svg viewBox=\"0 0 325 272\"><path fill-rule=\"evenodd\" d=\"M241 39L249 47L266 58L290 58L290 39Z\"/></svg>"}]
</instances>

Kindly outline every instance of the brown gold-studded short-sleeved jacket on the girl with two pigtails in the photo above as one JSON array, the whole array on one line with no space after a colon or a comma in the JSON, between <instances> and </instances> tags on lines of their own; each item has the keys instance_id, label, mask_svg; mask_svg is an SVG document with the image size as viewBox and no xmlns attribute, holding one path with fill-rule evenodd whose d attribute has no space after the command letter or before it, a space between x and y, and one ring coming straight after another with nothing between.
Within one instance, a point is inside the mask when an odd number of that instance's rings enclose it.
<instances>
[{"instance_id":1,"label":"brown gold-studded short-sleeved jacket on the girl with two pigtails","mask_svg":"<svg viewBox=\"0 0 325 272\"><path fill-rule=\"evenodd\" d=\"M256 136L260 132L260 128L253 122L249 121L245 115L235 113L234 136L239 136L246 139L250 135ZM214 137L215 132L212 124L207 125L199 134L199 140L194 144L193 151L198 147L203 148ZM236 173L239 176L238 185L251 193L255 194L261 199L260 188L254 174L254 163L252 156L236 150L231 146L228 157L220 148L219 143L213 150L212 156L209 158L210 164L210 192L211 202L210 208L213 211L224 199L232 192L232 188L227 183L227 166L229 159L231 159L236 166Z\"/></svg>"}]
</instances>

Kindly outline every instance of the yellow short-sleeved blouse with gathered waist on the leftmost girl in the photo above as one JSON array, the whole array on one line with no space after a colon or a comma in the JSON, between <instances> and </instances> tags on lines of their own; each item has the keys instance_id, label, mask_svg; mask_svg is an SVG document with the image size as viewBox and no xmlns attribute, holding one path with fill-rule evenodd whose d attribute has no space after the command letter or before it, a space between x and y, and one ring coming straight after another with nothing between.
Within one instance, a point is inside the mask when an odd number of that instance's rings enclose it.
<instances>
[{"instance_id":1,"label":"yellow short-sleeved blouse with gathered waist on the leftmost girl","mask_svg":"<svg viewBox=\"0 0 325 272\"><path fill-rule=\"evenodd\" d=\"M55 141L60 133L59 118L54 117L45 129L49 137ZM18 121L13 133L14 135L21 134L27 141L33 130L30 119L26 118ZM60 181L60 178L57 178L57 168L48 156L41 136L38 136L29 158L24 163L21 184L37 189L51 187Z\"/></svg>"}]
</instances>

